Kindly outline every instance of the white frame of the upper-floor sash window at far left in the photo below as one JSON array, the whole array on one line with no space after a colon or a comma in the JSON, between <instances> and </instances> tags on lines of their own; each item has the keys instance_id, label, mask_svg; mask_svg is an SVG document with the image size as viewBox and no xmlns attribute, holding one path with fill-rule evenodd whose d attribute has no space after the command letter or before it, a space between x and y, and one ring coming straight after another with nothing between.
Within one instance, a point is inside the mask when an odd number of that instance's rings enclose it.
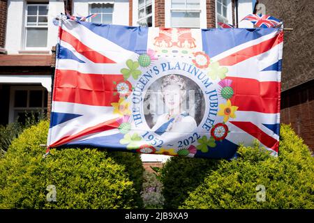
<instances>
[{"instance_id":1,"label":"white frame of the upper-floor sash window at far left","mask_svg":"<svg viewBox=\"0 0 314 223\"><path fill-rule=\"evenodd\" d=\"M28 6L47 6L48 13L47 13L47 25L45 26L33 26L27 24L27 15L28 15ZM38 17L38 15L37 15ZM33 50L33 51L40 51L40 50L47 50L48 49L48 20L49 20L49 2L47 3L27 3L25 8L25 18L24 18L24 41L23 41L23 48L25 50ZM37 28L37 29L47 29L47 43L45 47L27 47L27 28ZM49 49L48 49L49 50Z\"/></svg>"}]
</instances>

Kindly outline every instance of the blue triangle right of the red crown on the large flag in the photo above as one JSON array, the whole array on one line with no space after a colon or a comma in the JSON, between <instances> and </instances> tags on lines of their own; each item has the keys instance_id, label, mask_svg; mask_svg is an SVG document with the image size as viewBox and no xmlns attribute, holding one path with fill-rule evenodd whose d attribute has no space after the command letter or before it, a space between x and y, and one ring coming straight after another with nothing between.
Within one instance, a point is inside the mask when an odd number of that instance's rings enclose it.
<instances>
[{"instance_id":1,"label":"blue triangle right of the red crown on the large flag","mask_svg":"<svg viewBox=\"0 0 314 223\"><path fill-rule=\"evenodd\" d=\"M203 51L209 57L278 31L278 29L202 29Z\"/></svg>"}]
</instances>

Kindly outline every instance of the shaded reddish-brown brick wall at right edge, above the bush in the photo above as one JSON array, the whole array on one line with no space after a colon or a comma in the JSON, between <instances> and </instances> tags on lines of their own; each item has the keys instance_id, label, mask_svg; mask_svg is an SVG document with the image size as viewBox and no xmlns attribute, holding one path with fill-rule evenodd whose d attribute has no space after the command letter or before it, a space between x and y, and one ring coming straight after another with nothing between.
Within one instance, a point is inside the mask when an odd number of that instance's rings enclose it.
<instances>
[{"instance_id":1,"label":"shaded reddish-brown brick wall at right edge, above the bush","mask_svg":"<svg viewBox=\"0 0 314 223\"><path fill-rule=\"evenodd\" d=\"M281 93L281 123L292 128L314 151L314 80Z\"/></svg>"}]
</instances>

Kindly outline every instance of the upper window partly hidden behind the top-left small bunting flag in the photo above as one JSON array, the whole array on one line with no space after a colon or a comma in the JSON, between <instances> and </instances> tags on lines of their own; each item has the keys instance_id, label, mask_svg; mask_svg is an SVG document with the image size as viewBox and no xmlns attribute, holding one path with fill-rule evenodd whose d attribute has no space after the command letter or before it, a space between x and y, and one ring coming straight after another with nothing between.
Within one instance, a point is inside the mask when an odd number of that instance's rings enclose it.
<instances>
[{"instance_id":1,"label":"upper window partly hidden behind the top-left small bunting flag","mask_svg":"<svg viewBox=\"0 0 314 223\"><path fill-rule=\"evenodd\" d=\"M97 16L91 18L91 22L112 24L113 7L112 3L92 3L90 14L96 13Z\"/></svg>"}]
</instances>

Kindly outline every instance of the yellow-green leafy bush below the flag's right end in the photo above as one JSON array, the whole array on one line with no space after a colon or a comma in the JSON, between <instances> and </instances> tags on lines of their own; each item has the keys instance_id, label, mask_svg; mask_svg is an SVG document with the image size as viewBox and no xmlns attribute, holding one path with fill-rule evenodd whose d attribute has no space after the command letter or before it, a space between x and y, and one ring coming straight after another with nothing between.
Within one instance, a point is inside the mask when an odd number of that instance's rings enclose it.
<instances>
[{"instance_id":1,"label":"yellow-green leafy bush below the flag's right end","mask_svg":"<svg viewBox=\"0 0 314 223\"><path fill-rule=\"evenodd\" d=\"M237 160L220 162L181 208L314 208L313 182L311 152L289 125L281 125L278 157L258 145L241 146ZM266 189L264 201L257 185Z\"/></svg>"}]
</instances>

